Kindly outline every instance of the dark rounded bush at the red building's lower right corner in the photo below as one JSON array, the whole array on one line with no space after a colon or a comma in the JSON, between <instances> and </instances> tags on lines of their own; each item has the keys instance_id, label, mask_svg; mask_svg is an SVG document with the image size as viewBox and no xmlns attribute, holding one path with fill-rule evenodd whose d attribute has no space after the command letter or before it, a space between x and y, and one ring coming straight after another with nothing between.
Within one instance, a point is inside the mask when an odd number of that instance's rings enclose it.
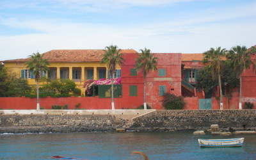
<instances>
[{"instance_id":1,"label":"dark rounded bush at the red building's lower right corner","mask_svg":"<svg viewBox=\"0 0 256 160\"><path fill-rule=\"evenodd\" d=\"M164 109L182 109L185 106L184 98L182 96L176 96L172 93L164 93L161 100L162 107Z\"/></svg>"}]
</instances>

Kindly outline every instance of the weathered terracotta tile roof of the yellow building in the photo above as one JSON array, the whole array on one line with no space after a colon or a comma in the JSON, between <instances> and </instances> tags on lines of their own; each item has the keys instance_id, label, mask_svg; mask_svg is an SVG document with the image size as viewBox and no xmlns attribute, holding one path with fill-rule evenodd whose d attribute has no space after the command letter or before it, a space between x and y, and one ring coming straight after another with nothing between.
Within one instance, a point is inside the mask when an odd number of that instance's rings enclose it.
<instances>
[{"instance_id":1,"label":"weathered terracotta tile roof of the yellow building","mask_svg":"<svg viewBox=\"0 0 256 160\"><path fill-rule=\"evenodd\" d=\"M136 53L134 49L122 49L120 53ZM99 62L102 60L102 49L61 49L44 53L49 62ZM6 60L3 62L25 62L29 58Z\"/></svg>"}]
</instances>

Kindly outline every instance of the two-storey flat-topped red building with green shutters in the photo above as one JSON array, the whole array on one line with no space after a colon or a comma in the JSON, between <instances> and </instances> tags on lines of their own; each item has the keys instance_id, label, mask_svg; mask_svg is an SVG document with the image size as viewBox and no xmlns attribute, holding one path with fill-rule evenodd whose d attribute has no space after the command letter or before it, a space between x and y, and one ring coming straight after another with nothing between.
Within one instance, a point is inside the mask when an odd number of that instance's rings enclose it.
<instances>
[{"instance_id":1,"label":"two-storey flat-topped red building with green shutters","mask_svg":"<svg viewBox=\"0 0 256 160\"><path fill-rule=\"evenodd\" d=\"M181 54L180 53L155 53L157 70L150 71L147 75L147 104L154 109L161 109L161 95L170 92L181 95ZM144 78L142 72L134 68L137 54L125 54L122 65L123 100L132 100L143 104ZM138 104L138 103L134 103ZM133 107L133 106L132 106Z\"/></svg>"}]
</instances>

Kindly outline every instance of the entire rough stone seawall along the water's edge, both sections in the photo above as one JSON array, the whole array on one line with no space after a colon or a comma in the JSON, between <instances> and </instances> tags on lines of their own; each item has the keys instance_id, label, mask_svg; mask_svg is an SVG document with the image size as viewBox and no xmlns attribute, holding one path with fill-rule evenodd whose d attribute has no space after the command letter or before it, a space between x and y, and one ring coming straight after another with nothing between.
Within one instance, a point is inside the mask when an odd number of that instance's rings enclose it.
<instances>
[{"instance_id":1,"label":"entire rough stone seawall along the water's edge, both sections","mask_svg":"<svg viewBox=\"0 0 256 160\"><path fill-rule=\"evenodd\" d=\"M115 131L196 131L218 124L227 131L256 130L256 110L157 110L136 111L131 120L125 112L111 115L19 115L0 114L0 134L4 132L93 132ZM80 113L79 113L80 114ZM122 118L124 115L124 118ZM139 116L138 116L139 115Z\"/></svg>"}]
</instances>

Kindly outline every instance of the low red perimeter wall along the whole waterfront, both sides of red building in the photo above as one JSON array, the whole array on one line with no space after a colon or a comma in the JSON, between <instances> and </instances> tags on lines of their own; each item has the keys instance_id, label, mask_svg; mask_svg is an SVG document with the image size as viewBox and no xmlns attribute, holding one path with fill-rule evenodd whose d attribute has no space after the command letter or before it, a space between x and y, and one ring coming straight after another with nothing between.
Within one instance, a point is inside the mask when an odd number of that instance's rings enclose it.
<instances>
[{"instance_id":1,"label":"low red perimeter wall along the whole waterfront, both sides of red building","mask_svg":"<svg viewBox=\"0 0 256 160\"><path fill-rule=\"evenodd\" d=\"M185 106L183 109L198 109L197 97L184 98ZM224 109L239 109L239 97L233 97L228 102L223 98ZM256 98L243 97L243 102L252 102L256 106ZM58 104L64 106L68 104L68 109L74 109L76 104L81 103L80 109L111 109L111 99L99 99L99 97L63 97L63 98L40 98L40 106L45 109L51 109L51 106ZM143 104L143 97L123 97L115 99L115 109L135 109ZM156 106L152 106L154 109L162 109L161 102L157 101ZM1 109L36 109L36 98L27 97L1 97L0 98ZM220 109L218 100L212 98L212 109ZM256 109L256 108L255 108Z\"/></svg>"}]
</instances>

